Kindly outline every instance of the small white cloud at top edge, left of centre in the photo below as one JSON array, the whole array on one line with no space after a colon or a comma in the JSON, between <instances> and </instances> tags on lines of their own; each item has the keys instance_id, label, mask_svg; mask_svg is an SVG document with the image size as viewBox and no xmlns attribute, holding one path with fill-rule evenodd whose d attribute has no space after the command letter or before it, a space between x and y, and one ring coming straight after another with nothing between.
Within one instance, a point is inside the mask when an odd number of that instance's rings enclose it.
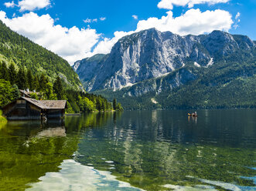
<instances>
[{"instance_id":1,"label":"small white cloud at top edge, left of centre","mask_svg":"<svg viewBox=\"0 0 256 191\"><path fill-rule=\"evenodd\" d=\"M46 8L50 5L49 0L22 0L19 2L20 12L33 11L40 8Z\"/></svg>"}]
</instances>

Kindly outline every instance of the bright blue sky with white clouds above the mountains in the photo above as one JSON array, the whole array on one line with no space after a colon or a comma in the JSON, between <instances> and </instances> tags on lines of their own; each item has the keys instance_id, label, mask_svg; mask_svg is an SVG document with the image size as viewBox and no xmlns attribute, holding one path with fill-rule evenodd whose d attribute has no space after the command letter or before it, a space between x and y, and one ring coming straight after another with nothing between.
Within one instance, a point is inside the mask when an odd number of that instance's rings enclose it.
<instances>
[{"instance_id":1,"label":"bright blue sky with white clouds above the mountains","mask_svg":"<svg viewBox=\"0 0 256 191\"><path fill-rule=\"evenodd\" d=\"M256 40L256 0L0 0L0 20L74 62L111 52L125 35L155 27L179 35L222 30Z\"/></svg>"}]
</instances>

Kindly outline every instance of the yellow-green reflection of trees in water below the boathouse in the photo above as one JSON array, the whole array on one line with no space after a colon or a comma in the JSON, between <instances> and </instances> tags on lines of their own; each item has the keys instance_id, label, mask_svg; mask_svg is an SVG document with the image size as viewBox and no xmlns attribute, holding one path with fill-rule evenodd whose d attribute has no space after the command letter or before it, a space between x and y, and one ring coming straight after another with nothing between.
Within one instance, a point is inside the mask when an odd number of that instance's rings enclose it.
<instances>
[{"instance_id":1,"label":"yellow-green reflection of trees in water below the boathouse","mask_svg":"<svg viewBox=\"0 0 256 191\"><path fill-rule=\"evenodd\" d=\"M47 172L56 172L63 159L77 150L78 137L65 136L61 124L9 122L0 129L0 189L24 190ZM50 127L49 127L50 126Z\"/></svg>"}]
</instances>

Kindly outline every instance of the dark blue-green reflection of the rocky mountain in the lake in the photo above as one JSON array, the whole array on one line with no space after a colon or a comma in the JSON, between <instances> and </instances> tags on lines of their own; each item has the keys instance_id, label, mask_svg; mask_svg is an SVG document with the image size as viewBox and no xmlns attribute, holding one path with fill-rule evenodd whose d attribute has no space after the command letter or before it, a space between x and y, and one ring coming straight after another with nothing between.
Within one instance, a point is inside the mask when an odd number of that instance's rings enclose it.
<instances>
[{"instance_id":1,"label":"dark blue-green reflection of the rocky mountain in the lake","mask_svg":"<svg viewBox=\"0 0 256 191\"><path fill-rule=\"evenodd\" d=\"M125 112L104 129L87 129L79 144L78 152L83 156L78 161L111 171L119 180L146 190L165 185L176 189L177 184L200 189L201 179L221 179L213 186L230 183L252 189L253 181L241 176L254 176L254 170L247 168L254 166L251 157L256 134L249 133L254 129L253 112L210 111L210 117L206 116L209 112L199 114L195 121L179 110Z\"/></svg>"}]
</instances>

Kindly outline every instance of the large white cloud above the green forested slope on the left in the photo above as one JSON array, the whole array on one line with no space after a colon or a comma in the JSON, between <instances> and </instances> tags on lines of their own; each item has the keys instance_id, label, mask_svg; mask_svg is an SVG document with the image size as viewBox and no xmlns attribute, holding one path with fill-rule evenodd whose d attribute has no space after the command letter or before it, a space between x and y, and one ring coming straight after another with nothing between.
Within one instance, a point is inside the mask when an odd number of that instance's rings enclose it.
<instances>
[{"instance_id":1,"label":"large white cloud above the green forested slope on the left","mask_svg":"<svg viewBox=\"0 0 256 191\"><path fill-rule=\"evenodd\" d=\"M94 29L55 25L54 19L48 14L39 16L29 12L21 17L7 18L5 12L0 11L0 19L15 32L56 52L70 64L85 58L100 38Z\"/></svg>"}]
</instances>

